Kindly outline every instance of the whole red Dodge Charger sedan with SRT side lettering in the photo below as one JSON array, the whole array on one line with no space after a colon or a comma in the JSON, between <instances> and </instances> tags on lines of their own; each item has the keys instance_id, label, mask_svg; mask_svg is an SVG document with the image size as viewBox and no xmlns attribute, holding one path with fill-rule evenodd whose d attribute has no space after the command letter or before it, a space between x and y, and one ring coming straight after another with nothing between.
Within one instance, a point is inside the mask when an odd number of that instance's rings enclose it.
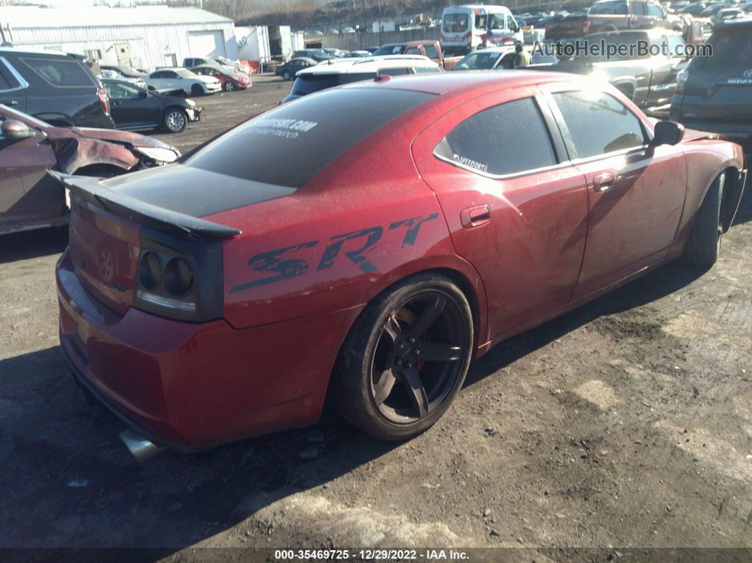
<instances>
[{"instance_id":1,"label":"whole red Dodge Charger sedan with SRT side lettering","mask_svg":"<svg viewBox=\"0 0 752 563\"><path fill-rule=\"evenodd\" d=\"M494 344L670 260L712 265L746 170L605 83L495 71L353 83L173 165L56 175L74 375L190 450L325 399L380 438L424 431Z\"/></svg>"}]
</instances>

